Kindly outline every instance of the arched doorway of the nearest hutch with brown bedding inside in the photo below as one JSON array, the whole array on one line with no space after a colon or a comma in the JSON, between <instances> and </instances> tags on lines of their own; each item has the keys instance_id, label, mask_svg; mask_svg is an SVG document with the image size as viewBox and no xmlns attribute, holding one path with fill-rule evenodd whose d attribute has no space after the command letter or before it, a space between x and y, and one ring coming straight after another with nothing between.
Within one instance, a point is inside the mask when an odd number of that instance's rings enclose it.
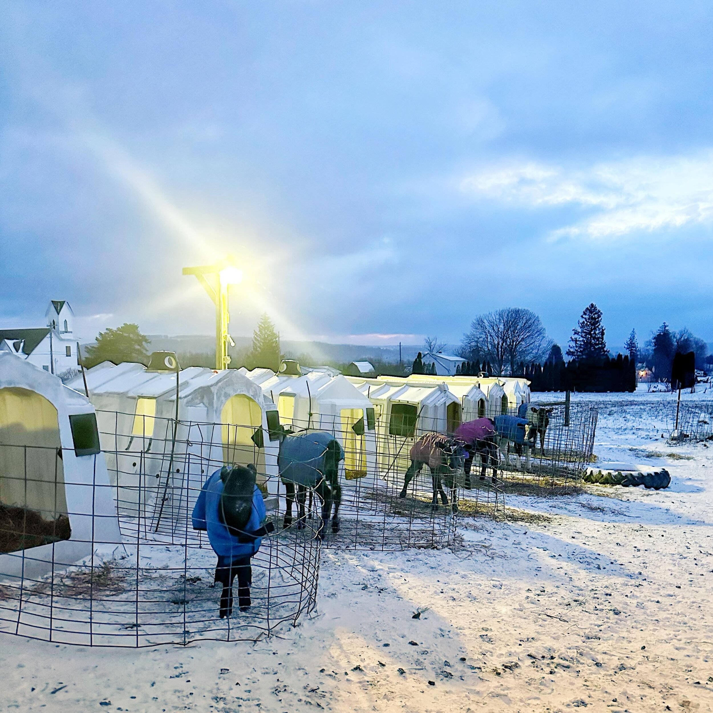
<instances>
[{"instance_id":1,"label":"arched doorway of the nearest hutch with brown bedding inside","mask_svg":"<svg viewBox=\"0 0 713 713\"><path fill-rule=\"evenodd\" d=\"M0 389L0 553L68 540L57 409L35 391Z\"/></svg>"}]
</instances>

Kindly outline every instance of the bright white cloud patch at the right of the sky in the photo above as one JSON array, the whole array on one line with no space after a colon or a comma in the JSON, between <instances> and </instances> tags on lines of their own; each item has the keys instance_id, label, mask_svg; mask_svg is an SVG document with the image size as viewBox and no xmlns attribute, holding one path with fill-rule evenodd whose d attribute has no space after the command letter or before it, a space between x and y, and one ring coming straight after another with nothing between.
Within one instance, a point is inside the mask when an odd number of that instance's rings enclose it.
<instances>
[{"instance_id":1,"label":"bright white cloud patch at the right of the sky","mask_svg":"<svg viewBox=\"0 0 713 713\"><path fill-rule=\"evenodd\" d=\"M461 190L530 208L578 207L586 217L555 228L550 238L616 237L713 220L713 151L640 157L570 169L524 163L464 178Z\"/></svg>"}]
</instances>

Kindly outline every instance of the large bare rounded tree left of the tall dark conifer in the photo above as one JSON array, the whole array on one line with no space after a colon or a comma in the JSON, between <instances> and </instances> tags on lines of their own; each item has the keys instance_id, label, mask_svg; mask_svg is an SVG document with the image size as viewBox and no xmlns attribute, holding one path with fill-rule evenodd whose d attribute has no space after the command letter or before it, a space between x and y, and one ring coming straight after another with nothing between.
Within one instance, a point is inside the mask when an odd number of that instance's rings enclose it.
<instances>
[{"instance_id":1,"label":"large bare rounded tree left of the tall dark conifer","mask_svg":"<svg viewBox=\"0 0 713 713\"><path fill-rule=\"evenodd\" d=\"M461 352L483 354L501 375L506 364L514 374L520 361L542 359L550 346L537 314L530 309L506 307L473 319Z\"/></svg>"}]
</instances>

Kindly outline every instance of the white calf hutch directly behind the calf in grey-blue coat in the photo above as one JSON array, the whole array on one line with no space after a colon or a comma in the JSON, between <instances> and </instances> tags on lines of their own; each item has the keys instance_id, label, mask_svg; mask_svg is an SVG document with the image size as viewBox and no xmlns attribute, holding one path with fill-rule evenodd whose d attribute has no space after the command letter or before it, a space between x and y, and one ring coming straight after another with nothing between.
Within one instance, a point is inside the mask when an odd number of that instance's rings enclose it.
<instances>
[{"instance_id":1,"label":"white calf hutch directly behind the calf in grey-blue coat","mask_svg":"<svg viewBox=\"0 0 713 713\"><path fill-rule=\"evenodd\" d=\"M245 371L245 375L277 404L282 426L329 431L339 440L347 480L376 474L374 409L346 377L322 371L275 374L270 369Z\"/></svg>"}]
</instances>

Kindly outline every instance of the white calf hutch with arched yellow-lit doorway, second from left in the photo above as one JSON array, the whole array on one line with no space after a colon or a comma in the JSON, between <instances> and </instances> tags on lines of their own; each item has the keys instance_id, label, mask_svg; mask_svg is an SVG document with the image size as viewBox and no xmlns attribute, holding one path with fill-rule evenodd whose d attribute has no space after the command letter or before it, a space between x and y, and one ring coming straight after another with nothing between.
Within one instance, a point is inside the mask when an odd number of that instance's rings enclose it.
<instances>
[{"instance_id":1,"label":"white calf hutch with arched yellow-lit doorway, second from left","mask_svg":"<svg viewBox=\"0 0 713 713\"><path fill-rule=\"evenodd\" d=\"M175 371L99 364L86 379L121 513L180 527L223 463L254 464L265 494L277 494L277 409L244 374L179 371L177 427ZM82 377L71 384L83 388Z\"/></svg>"}]
</instances>

